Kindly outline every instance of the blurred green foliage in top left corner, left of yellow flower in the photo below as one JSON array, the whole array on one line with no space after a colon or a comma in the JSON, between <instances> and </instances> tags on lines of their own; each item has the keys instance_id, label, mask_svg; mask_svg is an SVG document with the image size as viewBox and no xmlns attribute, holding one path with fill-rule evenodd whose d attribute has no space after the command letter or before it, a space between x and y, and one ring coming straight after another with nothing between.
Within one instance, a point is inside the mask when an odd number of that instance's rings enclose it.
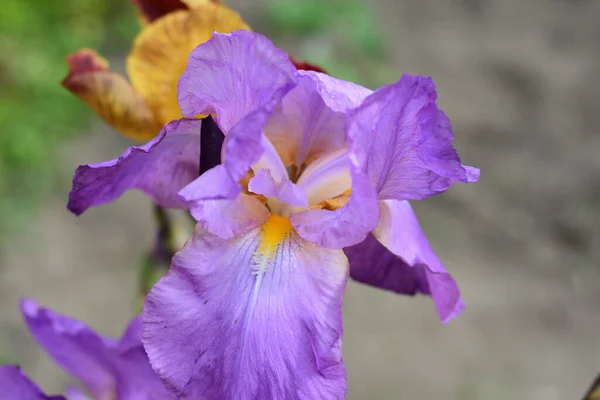
<instances>
[{"instance_id":1,"label":"blurred green foliage in top left corner, left of yellow flower","mask_svg":"<svg viewBox=\"0 0 600 400\"><path fill-rule=\"evenodd\" d=\"M60 86L65 56L115 51L137 28L124 0L8 1L0 13L0 238L56 183L56 145L92 114Z\"/></svg>"}]
</instances>

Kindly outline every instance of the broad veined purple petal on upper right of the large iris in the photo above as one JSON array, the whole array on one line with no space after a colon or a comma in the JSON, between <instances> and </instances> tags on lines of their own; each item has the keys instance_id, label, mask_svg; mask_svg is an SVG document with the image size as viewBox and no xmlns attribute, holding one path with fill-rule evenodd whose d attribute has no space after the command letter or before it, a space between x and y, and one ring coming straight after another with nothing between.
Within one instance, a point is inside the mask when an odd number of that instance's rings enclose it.
<instances>
[{"instance_id":1,"label":"broad veined purple petal on upper right of the large iris","mask_svg":"<svg viewBox=\"0 0 600 400\"><path fill-rule=\"evenodd\" d=\"M351 113L349 134L379 199L421 200L477 179L476 168L461 165L436 97L430 78L404 75Z\"/></svg>"}]
</instances>

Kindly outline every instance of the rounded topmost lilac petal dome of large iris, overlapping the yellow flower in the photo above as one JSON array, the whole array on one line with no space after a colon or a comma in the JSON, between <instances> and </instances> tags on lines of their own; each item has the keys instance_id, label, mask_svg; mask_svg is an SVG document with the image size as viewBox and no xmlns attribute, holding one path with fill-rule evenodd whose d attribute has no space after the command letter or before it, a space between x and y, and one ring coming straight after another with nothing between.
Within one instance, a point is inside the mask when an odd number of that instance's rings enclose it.
<instances>
[{"instance_id":1,"label":"rounded topmost lilac petal dome of large iris, overlapping the yellow flower","mask_svg":"<svg viewBox=\"0 0 600 400\"><path fill-rule=\"evenodd\" d=\"M192 51L179 79L179 105L186 116L216 114L228 135L254 110L277 103L295 80L287 54L266 37L248 31L216 33Z\"/></svg>"}]
</instances>

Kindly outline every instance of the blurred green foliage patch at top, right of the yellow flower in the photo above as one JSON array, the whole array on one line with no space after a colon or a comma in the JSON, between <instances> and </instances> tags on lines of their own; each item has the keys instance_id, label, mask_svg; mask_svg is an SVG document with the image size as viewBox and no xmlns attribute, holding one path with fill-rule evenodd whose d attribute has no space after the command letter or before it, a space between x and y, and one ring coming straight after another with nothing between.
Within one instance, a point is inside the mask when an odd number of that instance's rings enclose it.
<instances>
[{"instance_id":1,"label":"blurred green foliage patch at top, right of the yellow flower","mask_svg":"<svg viewBox=\"0 0 600 400\"><path fill-rule=\"evenodd\" d=\"M377 16L364 0L268 0L270 35L304 42L298 57L341 79L389 83L387 51Z\"/></svg>"}]
</instances>

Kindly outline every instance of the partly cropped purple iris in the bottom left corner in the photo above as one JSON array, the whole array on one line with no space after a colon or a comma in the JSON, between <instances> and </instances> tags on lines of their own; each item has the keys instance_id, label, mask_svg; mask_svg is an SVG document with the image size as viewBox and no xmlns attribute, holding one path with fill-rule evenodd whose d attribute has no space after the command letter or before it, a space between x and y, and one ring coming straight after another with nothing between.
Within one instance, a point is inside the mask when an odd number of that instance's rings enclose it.
<instances>
[{"instance_id":1,"label":"partly cropped purple iris in the bottom left corner","mask_svg":"<svg viewBox=\"0 0 600 400\"><path fill-rule=\"evenodd\" d=\"M81 389L70 387L69 400L163 400L175 399L160 378L152 370L141 341L141 319L134 318L120 340L98 335L79 321L52 310L39 307L33 300L21 302L25 323L35 340L46 350L54 362L77 378L87 389L88 397ZM0 373L0 388L6 374L18 375L14 368ZM4 378L2 378L2 374ZM55 399L28 395L24 390L35 386L25 377L15 380L22 387L23 395L10 397L15 400ZM29 390L29 389L27 389ZM1 389L0 389L1 391ZM21 392L16 392L21 393ZM29 397L28 397L29 396ZM2 398L2 396L0 396ZM60 399L62 397L56 397Z\"/></svg>"}]
</instances>

